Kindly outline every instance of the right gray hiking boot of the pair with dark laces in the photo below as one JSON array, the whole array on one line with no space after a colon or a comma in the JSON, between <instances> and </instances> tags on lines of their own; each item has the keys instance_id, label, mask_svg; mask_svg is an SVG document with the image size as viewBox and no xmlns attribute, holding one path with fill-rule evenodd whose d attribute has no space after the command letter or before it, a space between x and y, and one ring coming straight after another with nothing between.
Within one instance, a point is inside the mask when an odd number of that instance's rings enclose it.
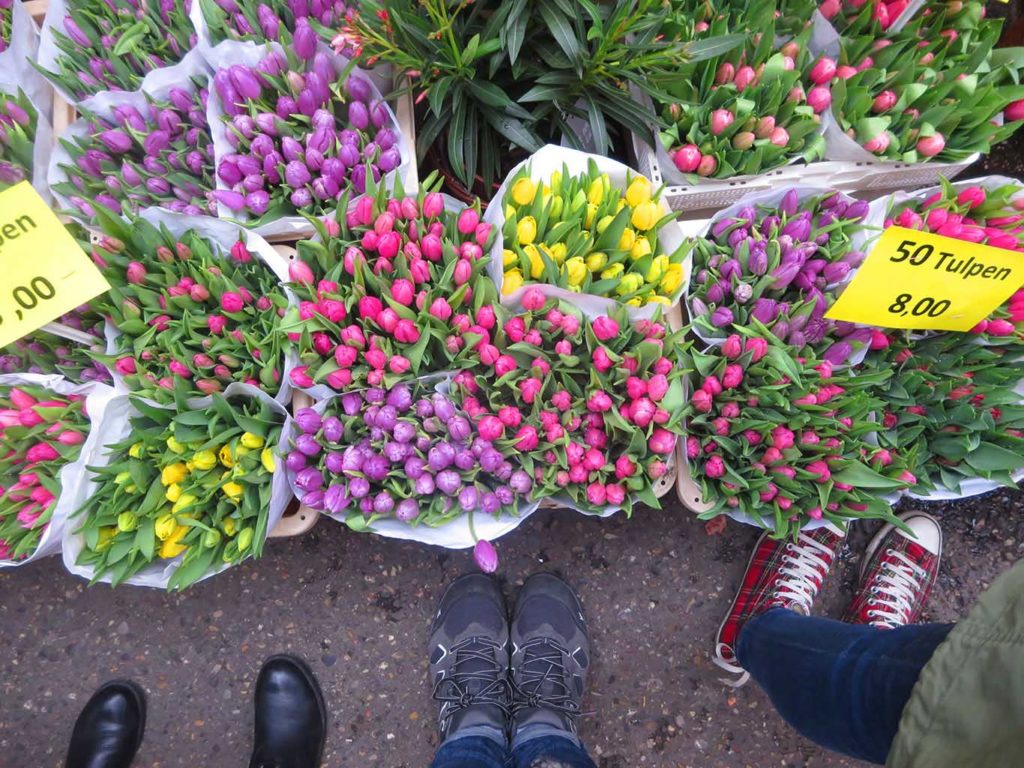
<instances>
[{"instance_id":1,"label":"right gray hiking boot of the pair with dark laces","mask_svg":"<svg viewBox=\"0 0 1024 768\"><path fill-rule=\"evenodd\" d=\"M537 573L519 591L512 615L512 734L548 726L573 736L590 667L583 606L572 588Z\"/></svg>"}]
</instances>

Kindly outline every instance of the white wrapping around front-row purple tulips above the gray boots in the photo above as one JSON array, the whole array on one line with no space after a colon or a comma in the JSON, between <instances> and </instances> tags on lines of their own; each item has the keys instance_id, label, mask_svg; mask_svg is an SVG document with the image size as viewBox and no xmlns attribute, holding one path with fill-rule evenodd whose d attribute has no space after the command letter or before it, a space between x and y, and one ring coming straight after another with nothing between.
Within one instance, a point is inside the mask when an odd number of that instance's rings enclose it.
<instances>
[{"instance_id":1,"label":"white wrapping around front-row purple tulips above the gray boots","mask_svg":"<svg viewBox=\"0 0 1024 768\"><path fill-rule=\"evenodd\" d=\"M411 379L402 383L407 386L412 386L417 383L428 387L433 386L435 391L444 394L447 392L447 385L450 382L451 374L439 373L421 376L418 379ZM351 390L351 392L358 391L364 390ZM346 392L345 394L349 393L350 392ZM342 393L335 392L331 397L316 402L312 409L317 414L323 416L328 407L341 396ZM287 424L285 425L285 429L282 432L281 446L279 450L281 456L287 456L291 451L291 441L296 436L297 429L298 427L296 426L294 419L289 418ZM301 496L299 496L300 492L299 488L295 486L294 477L291 476L290 472L288 474L292 490L301 502L302 499ZM521 525L522 522L534 514L540 507L540 502L523 502L519 506L518 514L501 514L498 517L477 509L472 513L463 513L454 520L450 520L449 522L437 526L411 524L389 517L386 519L374 520L374 522L367 525L365 528L361 528L360 531L377 534L378 536L382 536L386 539L398 539L401 541L429 544L436 547L443 547L444 549L470 549L475 546L478 539L495 541L496 539L499 539L519 527L519 525ZM346 522L345 515L334 515L327 510L322 511L319 514L341 523ZM472 514L472 527L470 523L470 514Z\"/></svg>"}]
</instances>

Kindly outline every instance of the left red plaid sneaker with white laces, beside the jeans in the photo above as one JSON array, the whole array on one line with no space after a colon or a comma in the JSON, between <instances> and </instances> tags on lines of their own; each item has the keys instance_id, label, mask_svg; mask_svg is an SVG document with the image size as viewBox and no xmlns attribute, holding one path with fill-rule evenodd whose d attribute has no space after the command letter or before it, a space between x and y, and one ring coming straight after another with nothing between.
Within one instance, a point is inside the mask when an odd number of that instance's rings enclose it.
<instances>
[{"instance_id":1,"label":"left red plaid sneaker with white laces, beside the jeans","mask_svg":"<svg viewBox=\"0 0 1024 768\"><path fill-rule=\"evenodd\" d=\"M828 524L801 532L796 542L776 541L770 539L768 534L758 540L739 592L719 627L715 641L712 660L726 672L741 676L735 682L724 682L739 687L750 679L736 658L739 630L748 618L775 607L791 608L804 614L811 612L814 598L845 536L838 527Z\"/></svg>"}]
</instances>

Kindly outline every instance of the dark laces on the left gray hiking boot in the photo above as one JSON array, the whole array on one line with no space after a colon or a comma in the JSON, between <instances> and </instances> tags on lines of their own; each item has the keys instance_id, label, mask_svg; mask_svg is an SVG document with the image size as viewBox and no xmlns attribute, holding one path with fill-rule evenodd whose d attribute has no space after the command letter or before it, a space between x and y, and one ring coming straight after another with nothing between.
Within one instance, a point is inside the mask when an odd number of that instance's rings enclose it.
<instances>
[{"instance_id":1,"label":"dark laces on the left gray hiking boot","mask_svg":"<svg viewBox=\"0 0 1024 768\"><path fill-rule=\"evenodd\" d=\"M485 637L470 637L452 646L450 652L455 656L452 674L438 680L432 693L442 703L442 731L453 715L473 705L494 705L506 717L510 715L508 671L495 660L501 647ZM467 670L469 662L479 664L469 665L471 669ZM473 683L481 683L482 687L473 691Z\"/></svg>"}]
</instances>

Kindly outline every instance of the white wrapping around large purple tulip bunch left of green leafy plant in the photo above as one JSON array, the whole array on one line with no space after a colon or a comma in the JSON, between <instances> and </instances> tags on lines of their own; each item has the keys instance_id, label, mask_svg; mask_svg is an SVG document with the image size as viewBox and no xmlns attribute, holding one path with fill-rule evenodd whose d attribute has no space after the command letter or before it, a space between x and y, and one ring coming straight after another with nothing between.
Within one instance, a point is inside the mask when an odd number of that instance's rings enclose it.
<instances>
[{"instance_id":1,"label":"white wrapping around large purple tulip bunch left of green leafy plant","mask_svg":"<svg viewBox=\"0 0 1024 768\"><path fill-rule=\"evenodd\" d=\"M198 5L199 2L196 2L195 6ZM317 49L330 56L331 63L337 74L340 75L348 66L347 58L337 55L324 43L317 43ZM218 69L230 67L231 65L255 67L271 51L280 53L283 51L283 48L276 43L259 46L253 42L226 40L209 50L207 60L215 72ZM401 155L401 163L393 171L389 171L384 174L380 183L384 184L388 188L392 188L394 186L395 179L400 179L401 185L407 191L416 189L419 182L414 177L414 169L416 167L415 148L410 142L409 136L401 130L401 126L398 124L398 118L395 117L391 105L384 100L380 90L378 90L377 86L374 85L375 78L355 67L349 71L349 76L353 75L360 76L365 78L368 83L370 83L373 88L373 96L379 99L384 105L384 109L387 111L386 127L394 131L395 136L398 137L396 146ZM207 122L210 124L210 133L213 136L213 166L217 179L217 189L230 188L229 185L225 184L223 179L220 178L220 175L217 173L217 168L220 166L221 159L234 154L234 150L227 141L227 128L224 125L223 115L224 111L220 103L220 95L217 93L216 88L211 88L210 100L207 105ZM359 196L354 193L349 196L349 210L355 206L355 202L358 198ZM330 214L330 212L328 213ZM304 216L299 214L294 216L283 216L273 221L260 224L259 226L249 226L246 223L245 218L236 218L230 211L221 211L219 215L221 219L242 224L256 234L273 240L298 240L301 238L310 238L316 233L315 227L313 227L313 225L310 224Z\"/></svg>"}]
</instances>

